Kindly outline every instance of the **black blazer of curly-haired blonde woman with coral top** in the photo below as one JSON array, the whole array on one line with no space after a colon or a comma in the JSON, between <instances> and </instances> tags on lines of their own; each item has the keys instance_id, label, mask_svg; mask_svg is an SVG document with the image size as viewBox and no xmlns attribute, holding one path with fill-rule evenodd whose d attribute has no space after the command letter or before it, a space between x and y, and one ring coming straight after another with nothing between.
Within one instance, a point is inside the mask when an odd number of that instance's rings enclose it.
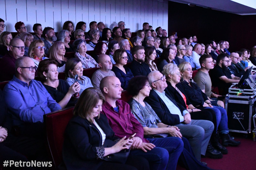
<instances>
[{"instance_id":1,"label":"black blazer of curly-haired blonde woman with coral top","mask_svg":"<svg viewBox=\"0 0 256 170\"><path fill-rule=\"evenodd\" d=\"M167 81L166 81L167 82ZM178 83L179 84L179 83ZM183 100L182 96L179 94L179 92L171 85L170 82L167 82L167 88L165 88L165 92L169 94L177 103L181 104L184 108L186 108L186 103ZM177 85L177 84L176 84ZM191 102L189 101L187 95L185 94L185 91L182 86L176 86L186 97L187 99L187 105L190 105Z\"/></svg>"}]
</instances>

